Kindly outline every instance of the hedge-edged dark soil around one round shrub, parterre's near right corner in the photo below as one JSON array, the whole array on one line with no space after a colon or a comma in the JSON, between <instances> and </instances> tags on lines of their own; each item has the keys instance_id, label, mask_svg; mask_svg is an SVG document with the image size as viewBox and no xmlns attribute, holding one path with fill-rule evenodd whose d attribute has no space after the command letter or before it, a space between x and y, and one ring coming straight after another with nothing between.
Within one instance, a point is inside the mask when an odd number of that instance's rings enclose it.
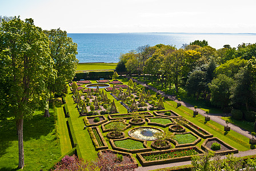
<instances>
[{"instance_id":1,"label":"hedge-edged dark soil around one round shrub, parterre's near right corner","mask_svg":"<svg viewBox=\"0 0 256 171\"><path fill-rule=\"evenodd\" d=\"M221 145L221 149L215 150L215 154L220 154L220 155L227 155L231 153L238 153L238 150L230 146L229 144L223 142L221 139L218 139L217 137L212 137L209 139L206 139L205 142L201 145L201 148L205 151L212 150L211 149L211 144L213 143L218 143Z\"/></svg>"}]
</instances>

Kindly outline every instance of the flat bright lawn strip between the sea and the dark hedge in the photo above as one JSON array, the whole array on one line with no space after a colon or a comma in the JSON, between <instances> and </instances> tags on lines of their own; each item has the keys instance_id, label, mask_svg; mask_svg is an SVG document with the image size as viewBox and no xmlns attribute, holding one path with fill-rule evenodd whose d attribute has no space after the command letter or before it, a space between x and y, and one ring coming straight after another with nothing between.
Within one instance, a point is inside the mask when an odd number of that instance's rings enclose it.
<instances>
[{"instance_id":1,"label":"flat bright lawn strip between the sea and the dark hedge","mask_svg":"<svg viewBox=\"0 0 256 171\"><path fill-rule=\"evenodd\" d=\"M79 70L115 70L117 63L79 63L77 71Z\"/></svg>"}]
</instances>

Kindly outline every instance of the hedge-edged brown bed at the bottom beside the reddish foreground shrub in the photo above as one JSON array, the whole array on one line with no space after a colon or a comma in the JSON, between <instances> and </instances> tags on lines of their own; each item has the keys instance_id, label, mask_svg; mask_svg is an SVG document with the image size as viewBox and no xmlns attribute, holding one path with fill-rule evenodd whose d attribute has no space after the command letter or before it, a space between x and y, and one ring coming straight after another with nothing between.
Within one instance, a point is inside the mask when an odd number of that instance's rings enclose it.
<instances>
[{"instance_id":1,"label":"hedge-edged brown bed at the bottom beside the reddish foreground shrub","mask_svg":"<svg viewBox=\"0 0 256 171\"><path fill-rule=\"evenodd\" d=\"M123 156L123 161L122 162L116 162L115 163L115 154L121 154ZM98 152L99 157L106 157L108 163L111 162L111 165L113 165L115 169L120 169L120 170L130 170L134 168L138 168L138 162L136 159L133 157L133 154L131 153L125 153L125 152L120 152L116 150L100 150ZM104 160L105 161L105 160Z\"/></svg>"}]
</instances>

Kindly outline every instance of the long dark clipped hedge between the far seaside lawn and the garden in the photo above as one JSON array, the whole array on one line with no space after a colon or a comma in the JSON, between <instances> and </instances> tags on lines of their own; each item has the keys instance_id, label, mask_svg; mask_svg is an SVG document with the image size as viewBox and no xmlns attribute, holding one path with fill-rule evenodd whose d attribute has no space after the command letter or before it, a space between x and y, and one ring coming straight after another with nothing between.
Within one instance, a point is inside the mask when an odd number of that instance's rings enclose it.
<instances>
[{"instance_id":1,"label":"long dark clipped hedge between the far seaside lawn and the garden","mask_svg":"<svg viewBox=\"0 0 256 171\"><path fill-rule=\"evenodd\" d=\"M90 72L76 72L74 81L81 79L112 79L114 71L90 71Z\"/></svg>"}]
</instances>

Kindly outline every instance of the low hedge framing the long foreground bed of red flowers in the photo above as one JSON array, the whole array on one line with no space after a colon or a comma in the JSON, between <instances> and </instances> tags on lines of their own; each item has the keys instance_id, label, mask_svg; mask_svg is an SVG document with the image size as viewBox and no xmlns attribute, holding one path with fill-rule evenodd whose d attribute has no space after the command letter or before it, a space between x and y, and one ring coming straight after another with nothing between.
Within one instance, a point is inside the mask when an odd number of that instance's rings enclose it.
<instances>
[{"instance_id":1,"label":"low hedge framing the long foreground bed of red flowers","mask_svg":"<svg viewBox=\"0 0 256 171\"><path fill-rule=\"evenodd\" d=\"M186 148L174 148L174 149L168 149L168 150L156 150L153 152L145 152L145 153L137 153L136 157L138 158L138 161L141 163L142 166L151 166L151 165L162 165L162 164L169 164L171 162L182 162L182 161L190 161L191 156L182 156L182 157L175 157L175 158L167 158L163 160L154 160L154 161L146 161L142 156L145 156L146 154L161 154L170 152L171 150L183 150L183 149L189 149L194 148L197 150L199 154L193 155L193 156L201 156L204 151L202 149L199 149L197 146L189 146Z\"/></svg>"}]
</instances>

